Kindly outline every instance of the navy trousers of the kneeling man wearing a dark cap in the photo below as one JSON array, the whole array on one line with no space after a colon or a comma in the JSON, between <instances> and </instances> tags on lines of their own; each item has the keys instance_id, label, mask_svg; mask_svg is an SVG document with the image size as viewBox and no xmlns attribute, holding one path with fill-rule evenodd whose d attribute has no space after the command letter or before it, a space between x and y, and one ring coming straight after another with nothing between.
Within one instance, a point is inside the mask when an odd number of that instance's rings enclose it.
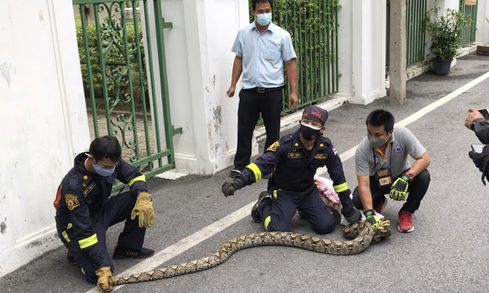
<instances>
[{"instance_id":1,"label":"navy trousers of the kneeling man wearing a dark cap","mask_svg":"<svg viewBox=\"0 0 489 293\"><path fill-rule=\"evenodd\" d=\"M269 190L272 200L262 200L258 213L268 232L290 232L292 218L297 209L311 223L318 234L327 234L335 230L335 217L321 199L316 184L299 193L286 190Z\"/></svg>"}]
</instances>

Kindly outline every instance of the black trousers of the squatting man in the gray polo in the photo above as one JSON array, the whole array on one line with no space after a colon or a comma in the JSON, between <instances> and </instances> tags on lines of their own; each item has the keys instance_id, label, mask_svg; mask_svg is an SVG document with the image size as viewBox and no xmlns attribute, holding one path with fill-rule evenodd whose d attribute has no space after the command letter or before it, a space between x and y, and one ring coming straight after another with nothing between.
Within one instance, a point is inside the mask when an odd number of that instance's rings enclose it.
<instances>
[{"instance_id":1,"label":"black trousers of the squatting man in the gray polo","mask_svg":"<svg viewBox=\"0 0 489 293\"><path fill-rule=\"evenodd\" d=\"M405 170L404 172L406 172ZM404 173L402 172L402 173ZM396 178L397 179L397 178ZM426 191L430 186L430 172L423 170L418 176L414 177L414 180L409 183L408 196L406 202L402 205L400 213L402 211L409 211L414 213L419 209L421 200L425 197ZM395 179L393 180L395 181ZM376 206L382 202L384 195L391 191L391 186L379 187L377 180L374 176L370 176L370 193L372 193L372 204ZM353 204L357 209L363 209L362 202L360 201L360 193L358 192L358 186L353 190Z\"/></svg>"}]
</instances>

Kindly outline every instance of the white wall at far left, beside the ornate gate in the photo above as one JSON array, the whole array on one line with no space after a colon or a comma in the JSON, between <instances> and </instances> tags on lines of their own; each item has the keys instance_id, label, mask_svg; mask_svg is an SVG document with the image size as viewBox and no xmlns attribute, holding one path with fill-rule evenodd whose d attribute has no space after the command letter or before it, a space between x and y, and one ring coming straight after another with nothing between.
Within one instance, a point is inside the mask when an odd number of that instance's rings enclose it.
<instances>
[{"instance_id":1,"label":"white wall at far left, beside the ornate gate","mask_svg":"<svg viewBox=\"0 0 489 293\"><path fill-rule=\"evenodd\" d=\"M61 245L52 202L89 133L71 1L0 1L0 44L4 276Z\"/></svg>"}]
</instances>

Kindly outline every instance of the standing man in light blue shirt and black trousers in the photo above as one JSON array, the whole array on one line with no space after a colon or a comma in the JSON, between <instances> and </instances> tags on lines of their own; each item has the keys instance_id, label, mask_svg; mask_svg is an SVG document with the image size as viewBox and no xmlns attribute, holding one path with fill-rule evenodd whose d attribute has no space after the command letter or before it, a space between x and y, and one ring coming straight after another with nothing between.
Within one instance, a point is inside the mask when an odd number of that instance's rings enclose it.
<instances>
[{"instance_id":1,"label":"standing man in light blue shirt and black trousers","mask_svg":"<svg viewBox=\"0 0 489 293\"><path fill-rule=\"evenodd\" d=\"M296 56L291 35L271 22L272 0L253 0L251 6L255 21L241 29L236 36L231 49L236 54L231 87L226 92L229 98L234 96L236 83L242 73L238 107L238 149L235 167L231 171L233 178L249 165L253 130L260 113L267 134L265 146L276 142L280 137L284 63L291 89L289 106L292 104L292 111L298 102Z\"/></svg>"}]
</instances>

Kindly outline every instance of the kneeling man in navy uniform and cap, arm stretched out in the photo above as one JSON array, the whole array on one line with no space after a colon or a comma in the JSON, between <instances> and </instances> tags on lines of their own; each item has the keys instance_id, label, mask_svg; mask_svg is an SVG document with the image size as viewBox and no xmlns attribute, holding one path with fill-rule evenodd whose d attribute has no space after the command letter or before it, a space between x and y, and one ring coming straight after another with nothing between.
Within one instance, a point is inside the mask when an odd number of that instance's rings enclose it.
<instances>
[{"instance_id":1,"label":"kneeling man in navy uniform and cap, arm stretched out","mask_svg":"<svg viewBox=\"0 0 489 293\"><path fill-rule=\"evenodd\" d=\"M224 183L222 193L226 197L233 195L235 190L260 180L261 174L273 171L268 190L260 193L251 209L251 218L256 223L263 222L268 232L289 232L291 220L299 209L316 233L326 234L335 229L335 218L314 183L316 170L326 165L344 206L342 214L349 223L360 220L361 213L353 209L340 157L331 141L321 136L327 119L326 110L307 107L302 113L300 129L272 144L232 183Z\"/></svg>"}]
</instances>

